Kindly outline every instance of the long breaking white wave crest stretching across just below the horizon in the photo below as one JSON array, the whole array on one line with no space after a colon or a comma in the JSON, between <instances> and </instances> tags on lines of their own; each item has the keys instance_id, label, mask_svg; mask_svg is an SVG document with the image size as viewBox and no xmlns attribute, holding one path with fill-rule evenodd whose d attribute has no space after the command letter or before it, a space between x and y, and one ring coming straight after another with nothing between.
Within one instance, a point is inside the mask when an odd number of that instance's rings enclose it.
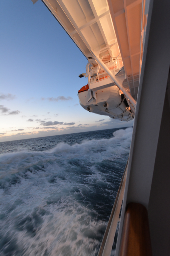
<instances>
[{"instance_id":1,"label":"long breaking white wave crest stretching across just below the horizon","mask_svg":"<svg viewBox=\"0 0 170 256\"><path fill-rule=\"evenodd\" d=\"M56 158L71 159L76 157L89 158L96 162L107 158L108 155L119 156L122 152L128 152L132 137L132 128L120 129L113 133L110 139L83 141L80 144L70 146L67 143L59 143L56 147L47 151L26 151L5 153L0 155L0 175L16 173L22 168L37 164L40 160L43 163L55 161Z\"/></svg>"}]
</instances>

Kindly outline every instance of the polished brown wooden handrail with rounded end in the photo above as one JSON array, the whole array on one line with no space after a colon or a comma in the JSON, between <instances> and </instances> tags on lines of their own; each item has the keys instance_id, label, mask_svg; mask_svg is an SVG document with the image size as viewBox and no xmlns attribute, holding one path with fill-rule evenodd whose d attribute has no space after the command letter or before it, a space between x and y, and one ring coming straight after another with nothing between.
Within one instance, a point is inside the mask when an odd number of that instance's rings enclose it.
<instances>
[{"instance_id":1,"label":"polished brown wooden handrail with rounded end","mask_svg":"<svg viewBox=\"0 0 170 256\"><path fill-rule=\"evenodd\" d=\"M119 256L152 256L148 211L142 204L127 205Z\"/></svg>"}]
</instances>

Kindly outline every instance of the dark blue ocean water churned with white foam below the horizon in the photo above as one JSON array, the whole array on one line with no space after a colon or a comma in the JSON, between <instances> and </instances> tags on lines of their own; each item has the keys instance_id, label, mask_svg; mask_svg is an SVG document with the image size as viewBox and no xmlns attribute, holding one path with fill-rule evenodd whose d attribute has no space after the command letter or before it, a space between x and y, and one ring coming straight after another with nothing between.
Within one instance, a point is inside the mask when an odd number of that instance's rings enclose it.
<instances>
[{"instance_id":1,"label":"dark blue ocean water churned with white foam below the horizon","mask_svg":"<svg viewBox=\"0 0 170 256\"><path fill-rule=\"evenodd\" d=\"M0 255L97 255L131 137L130 127L0 143Z\"/></svg>"}]
</instances>

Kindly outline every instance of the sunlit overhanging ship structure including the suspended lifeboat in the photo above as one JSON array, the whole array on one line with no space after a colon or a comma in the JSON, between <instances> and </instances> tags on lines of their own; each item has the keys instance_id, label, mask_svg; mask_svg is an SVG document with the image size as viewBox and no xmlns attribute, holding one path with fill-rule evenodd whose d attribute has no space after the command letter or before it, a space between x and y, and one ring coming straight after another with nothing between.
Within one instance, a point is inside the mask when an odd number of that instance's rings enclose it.
<instances>
[{"instance_id":1,"label":"sunlit overhanging ship structure including the suspended lifeboat","mask_svg":"<svg viewBox=\"0 0 170 256\"><path fill-rule=\"evenodd\" d=\"M88 60L86 73L79 75L88 79L78 92L81 106L89 112L132 120L145 41L145 1L43 2Z\"/></svg>"}]
</instances>

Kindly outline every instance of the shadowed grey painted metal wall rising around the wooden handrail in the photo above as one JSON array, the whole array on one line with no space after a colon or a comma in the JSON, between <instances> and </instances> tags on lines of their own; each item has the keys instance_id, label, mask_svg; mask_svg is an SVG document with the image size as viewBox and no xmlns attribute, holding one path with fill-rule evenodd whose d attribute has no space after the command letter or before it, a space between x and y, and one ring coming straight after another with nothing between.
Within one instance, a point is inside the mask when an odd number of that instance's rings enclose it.
<instances>
[{"instance_id":1,"label":"shadowed grey painted metal wall rising around the wooden handrail","mask_svg":"<svg viewBox=\"0 0 170 256\"><path fill-rule=\"evenodd\" d=\"M167 202L169 202L170 197L169 194L163 193L164 190L169 190L170 181L169 157L167 156L167 150L169 149L167 145L169 145L170 142L169 126L166 127L166 123L169 124L170 114L168 104L165 109L164 103L166 100L165 95L170 66L169 13L169 1L150 1L122 217L115 253L116 256L119 255L120 251L124 213L128 202L140 203L148 209L153 255L169 255L170 209L169 203ZM159 38L157 36L158 31L160 32ZM162 63L162 65L160 65L160 63ZM165 117L163 109L164 111L166 110ZM163 167L161 164L161 166L156 167L156 165L162 161L157 151L163 118L165 118L164 127L166 127L166 129L164 129L164 133L166 133L164 139L165 141L167 140L168 143L162 143L159 151L164 152L162 157L164 155L167 156L163 161L166 162L166 165ZM166 175L168 184L165 182L166 179L162 183L164 179L163 176L162 180L159 178L157 185L152 184L156 168L159 168L159 177L161 177L161 173L162 175ZM158 174L155 173L155 176L156 175ZM157 191L157 195L155 195L156 198L154 194L150 197L152 187L153 191ZM160 216L162 217L160 218ZM164 221L161 221L162 218Z\"/></svg>"}]
</instances>

